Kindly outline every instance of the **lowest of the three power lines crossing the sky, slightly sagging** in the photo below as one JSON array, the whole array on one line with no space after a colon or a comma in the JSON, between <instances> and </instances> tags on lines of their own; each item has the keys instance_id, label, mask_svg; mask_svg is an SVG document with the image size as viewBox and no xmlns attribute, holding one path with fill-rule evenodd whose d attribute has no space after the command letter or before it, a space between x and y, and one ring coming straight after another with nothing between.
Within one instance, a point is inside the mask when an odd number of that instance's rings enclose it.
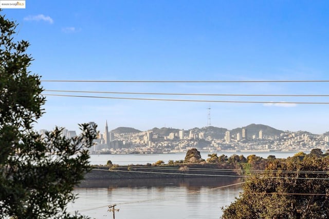
<instances>
[{"instance_id":1,"label":"lowest of the three power lines crossing the sky, slightly sagging","mask_svg":"<svg viewBox=\"0 0 329 219\"><path fill-rule=\"evenodd\" d=\"M153 101L176 101L176 102L215 102L215 103L269 103L269 104L329 104L329 102L277 102L277 101L231 101L231 100L186 100L186 99L157 99L157 98L129 98L129 97L100 97L100 96L78 96L78 95L57 95L43 94L45 96L57 97L83 97L83 98L101 98L101 99L120 99L120 100L153 100Z\"/></svg>"}]
</instances>

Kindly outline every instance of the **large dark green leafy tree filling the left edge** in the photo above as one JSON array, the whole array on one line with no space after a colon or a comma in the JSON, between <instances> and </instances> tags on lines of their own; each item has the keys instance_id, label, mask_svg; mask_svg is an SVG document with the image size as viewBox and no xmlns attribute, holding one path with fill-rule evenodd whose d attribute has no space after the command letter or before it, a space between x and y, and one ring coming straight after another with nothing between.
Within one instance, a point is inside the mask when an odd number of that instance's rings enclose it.
<instances>
[{"instance_id":1,"label":"large dark green leafy tree filling the left edge","mask_svg":"<svg viewBox=\"0 0 329 219\"><path fill-rule=\"evenodd\" d=\"M66 205L89 170L96 126L71 139L59 128L45 138L33 131L44 113L40 76L27 70L29 43L13 40L16 24L0 15L0 28L0 218L83 218Z\"/></svg>"}]
</instances>

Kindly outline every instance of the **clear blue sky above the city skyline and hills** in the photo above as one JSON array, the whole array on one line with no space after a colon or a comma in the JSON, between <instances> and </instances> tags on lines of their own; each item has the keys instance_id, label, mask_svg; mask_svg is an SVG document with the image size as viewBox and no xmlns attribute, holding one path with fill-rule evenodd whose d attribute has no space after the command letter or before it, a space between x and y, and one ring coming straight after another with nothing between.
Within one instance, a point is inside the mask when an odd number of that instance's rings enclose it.
<instances>
[{"instance_id":1,"label":"clear blue sky above the city skyline and hills","mask_svg":"<svg viewBox=\"0 0 329 219\"><path fill-rule=\"evenodd\" d=\"M26 1L5 9L43 80L329 80L327 1ZM325 95L328 83L54 83L45 89L135 93ZM50 92L45 92L50 94ZM54 94L52 92L52 94ZM65 94L65 93L56 93ZM81 95L72 94L71 95ZM97 94L82 94L97 96ZM108 97L329 102L329 97ZM118 126L329 131L329 105L142 101L47 96L35 129Z\"/></svg>"}]
</instances>

